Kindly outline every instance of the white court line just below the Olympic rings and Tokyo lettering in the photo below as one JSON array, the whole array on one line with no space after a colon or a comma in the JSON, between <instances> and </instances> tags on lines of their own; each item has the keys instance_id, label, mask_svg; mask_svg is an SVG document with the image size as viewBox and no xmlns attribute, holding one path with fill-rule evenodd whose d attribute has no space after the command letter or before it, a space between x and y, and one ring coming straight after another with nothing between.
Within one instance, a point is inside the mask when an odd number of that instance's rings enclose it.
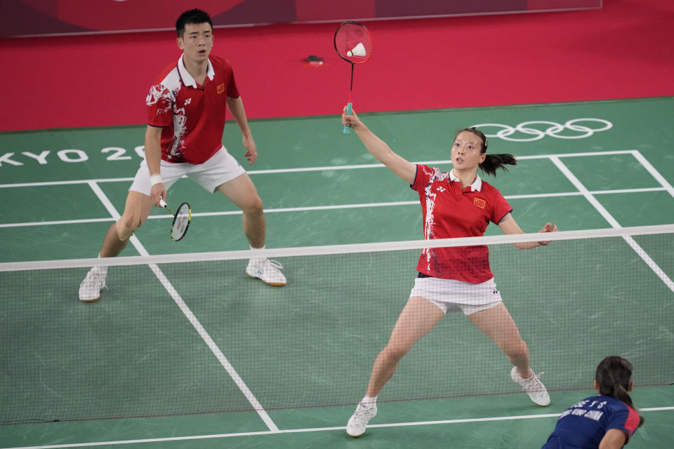
<instances>
[{"instance_id":1,"label":"white court line just below the Olympic rings and Tokyo lettering","mask_svg":"<svg viewBox=\"0 0 674 449\"><path fill-rule=\"evenodd\" d=\"M550 159L553 157L579 157L579 156L608 156L612 154L634 154L637 152L634 149L619 149L610 152L588 152L588 153L568 153L568 154L541 154L534 156L517 156L517 160L525 159ZM637 152L638 153L638 152ZM642 156L643 157L643 156ZM447 161L418 161L414 163L422 163L424 165L434 165L434 164L451 164L451 160ZM310 172L310 171L330 171L330 170L350 170L353 168L383 168L381 163L370 163L370 164L361 164L361 165L350 165L350 166L324 166L324 167L304 167L304 168L276 168L272 170L247 170L246 173L249 175L266 175L272 173L299 173L299 172ZM20 182L17 184L0 184L0 188L11 188L11 187L43 187L48 185L69 185L69 184L88 184L88 182L131 182L133 177L117 177L117 178L107 178L100 180L74 180L74 181L46 181L46 182Z\"/></svg>"}]
</instances>

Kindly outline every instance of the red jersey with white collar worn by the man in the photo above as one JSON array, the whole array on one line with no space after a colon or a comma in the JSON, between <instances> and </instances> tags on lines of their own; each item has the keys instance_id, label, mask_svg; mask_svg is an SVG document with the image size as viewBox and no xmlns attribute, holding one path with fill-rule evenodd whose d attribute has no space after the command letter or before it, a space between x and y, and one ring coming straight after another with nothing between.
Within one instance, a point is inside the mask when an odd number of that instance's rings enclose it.
<instances>
[{"instance_id":1,"label":"red jersey with white collar worn by the man","mask_svg":"<svg viewBox=\"0 0 674 449\"><path fill-rule=\"evenodd\" d=\"M161 130L161 159L204 163L223 146L227 97L238 98L230 62L211 55L204 86L183 57L161 71L147 94L147 124Z\"/></svg>"}]
</instances>

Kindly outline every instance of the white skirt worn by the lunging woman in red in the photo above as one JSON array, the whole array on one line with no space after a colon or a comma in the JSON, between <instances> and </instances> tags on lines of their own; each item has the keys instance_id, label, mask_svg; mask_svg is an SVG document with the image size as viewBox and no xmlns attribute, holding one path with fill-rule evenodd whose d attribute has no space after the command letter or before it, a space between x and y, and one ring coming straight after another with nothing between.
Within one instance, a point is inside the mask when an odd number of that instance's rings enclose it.
<instances>
[{"instance_id":1,"label":"white skirt worn by the lunging woman in red","mask_svg":"<svg viewBox=\"0 0 674 449\"><path fill-rule=\"evenodd\" d=\"M447 312L463 311L470 315L490 309L501 302L494 278L483 283L470 283L456 279L416 278L409 297L421 296Z\"/></svg>"}]
</instances>

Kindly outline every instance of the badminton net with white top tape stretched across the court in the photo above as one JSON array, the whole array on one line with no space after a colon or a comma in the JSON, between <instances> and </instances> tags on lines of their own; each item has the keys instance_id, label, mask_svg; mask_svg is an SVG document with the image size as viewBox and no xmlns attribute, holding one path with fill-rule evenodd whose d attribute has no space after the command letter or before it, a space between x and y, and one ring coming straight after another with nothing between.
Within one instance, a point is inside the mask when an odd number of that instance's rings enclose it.
<instances>
[{"instance_id":1,"label":"badminton net with white top tape stretched across the court","mask_svg":"<svg viewBox=\"0 0 674 449\"><path fill-rule=\"evenodd\" d=\"M589 389L621 355L635 382L673 382L674 225L0 264L0 423L357 403L409 297L422 248L486 245L503 302L550 391ZM106 264L98 302L79 283ZM379 401L514 394L510 363L459 313L399 363ZM479 378L480 382L475 382Z\"/></svg>"}]
</instances>

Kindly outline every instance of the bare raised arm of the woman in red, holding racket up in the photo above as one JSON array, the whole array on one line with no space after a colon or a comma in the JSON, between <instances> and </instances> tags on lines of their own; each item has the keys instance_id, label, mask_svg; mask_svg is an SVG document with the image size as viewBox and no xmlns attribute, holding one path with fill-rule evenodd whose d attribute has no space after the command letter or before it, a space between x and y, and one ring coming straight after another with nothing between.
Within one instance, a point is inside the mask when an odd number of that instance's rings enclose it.
<instances>
[{"instance_id":1,"label":"bare raised arm of the woman in red, holding racket up","mask_svg":"<svg viewBox=\"0 0 674 449\"><path fill-rule=\"evenodd\" d=\"M407 184L414 182L416 176L416 164L407 161L404 157L399 156L380 138L378 138L365 124L358 119L355 111L351 114L346 114L346 107L342 113L342 123L345 126L350 126L356 135L363 142L367 151L372 154L378 161L383 163L389 170L402 178Z\"/></svg>"}]
</instances>

